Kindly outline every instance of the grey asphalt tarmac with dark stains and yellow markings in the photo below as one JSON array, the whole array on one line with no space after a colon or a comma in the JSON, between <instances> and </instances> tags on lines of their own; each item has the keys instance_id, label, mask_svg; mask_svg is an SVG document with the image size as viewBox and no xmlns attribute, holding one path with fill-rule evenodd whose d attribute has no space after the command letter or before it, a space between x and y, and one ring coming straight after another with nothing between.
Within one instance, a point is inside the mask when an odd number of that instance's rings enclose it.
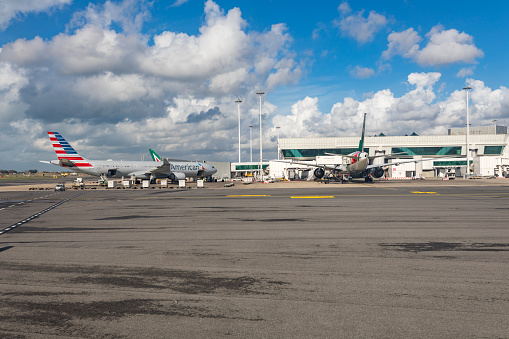
<instances>
[{"instance_id":1,"label":"grey asphalt tarmac with dark stains and yellow markings","mask_svg":"<svg viewBox=\"0 0 509 339\"><path fill-rule=\"evenodd\" d=\"M0 337L509 338L509 179L19 185Z\"/></svg>"}]
</instances>

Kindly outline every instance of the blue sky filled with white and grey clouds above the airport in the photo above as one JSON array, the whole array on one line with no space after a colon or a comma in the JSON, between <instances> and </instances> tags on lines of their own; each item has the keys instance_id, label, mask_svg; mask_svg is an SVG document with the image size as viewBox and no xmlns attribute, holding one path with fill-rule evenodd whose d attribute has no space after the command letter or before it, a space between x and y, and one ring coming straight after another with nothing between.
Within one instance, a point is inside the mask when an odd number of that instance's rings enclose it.
<instances>
[{"instance_id":1,"label":"blue sky filled with white and grey clouds above the airport","mask_svg":"<svg viewBox=\"0 0 509 339\"><path fill-rule=\"evenodd\" d=\"M509 124L508 1L0 0L0 169ZM235 101L241 99L242 103ZM250 138L250 127L252 138ZM276 127L280 127L277 129Z\"/></svg>"}]
</instances>

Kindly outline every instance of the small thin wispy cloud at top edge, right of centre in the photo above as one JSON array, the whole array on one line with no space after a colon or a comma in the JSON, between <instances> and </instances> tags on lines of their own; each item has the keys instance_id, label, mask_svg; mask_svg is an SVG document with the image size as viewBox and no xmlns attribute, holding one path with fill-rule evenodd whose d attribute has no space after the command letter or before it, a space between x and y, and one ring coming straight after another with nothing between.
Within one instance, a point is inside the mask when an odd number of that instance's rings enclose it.
<instances>
[{"instance_id":1,"label":"small thin wispy cloud at top edge, right of centre","mask_svg":"<svg viewBox=\"0 0 509 339\"><path fill-rule=\"evenodd\" d=\"M375 34L385 27L388 23L384 15L375 11L370 11L367 17L364 17L364 10L354 14L347 2L339 5L338 10L341 14L340 19L335 21L335 25L343 35L357 40L364 44L373 41Z\"/></svg>"}]
</instances>

